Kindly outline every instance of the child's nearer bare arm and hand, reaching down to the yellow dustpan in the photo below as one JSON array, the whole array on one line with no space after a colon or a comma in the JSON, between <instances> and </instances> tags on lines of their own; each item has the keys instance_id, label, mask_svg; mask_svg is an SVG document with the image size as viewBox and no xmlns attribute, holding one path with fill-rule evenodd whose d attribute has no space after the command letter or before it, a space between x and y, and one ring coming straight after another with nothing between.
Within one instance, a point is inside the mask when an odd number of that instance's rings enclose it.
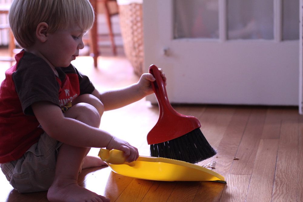
<instances>
[{"instance_id":1,"label":"child's nearer bare arm and hand, reaching down to the yellow dustpan","mask_svg":"<svg viewBox=\"0 0 303 202\"><path fill-rule=\"evenodd\" d=\"M52 138L76 147L106 147L124 151L126 161L135 161L138 150L106 131L91 127L73 118L66 118L61 108L51 102L39 101L32 104L32 110L43 130Z\"/></svg>"}]
</instances>

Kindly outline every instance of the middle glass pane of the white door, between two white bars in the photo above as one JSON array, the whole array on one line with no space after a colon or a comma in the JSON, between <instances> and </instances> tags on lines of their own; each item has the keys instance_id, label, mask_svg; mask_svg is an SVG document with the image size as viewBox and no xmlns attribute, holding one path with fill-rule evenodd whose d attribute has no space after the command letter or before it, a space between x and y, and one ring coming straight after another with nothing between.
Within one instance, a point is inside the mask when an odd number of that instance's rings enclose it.
<instances>
[{"instance_id":1,"label":"middle glass pane of the white door, between two white bars","mask_svg":"<svg viewBox=\"0 0 303 202\"><path fill-rule=\"evenodd\" d=\"M274 39L273 0L227 0L228 39Z\"/></svg>"}]
</instances>

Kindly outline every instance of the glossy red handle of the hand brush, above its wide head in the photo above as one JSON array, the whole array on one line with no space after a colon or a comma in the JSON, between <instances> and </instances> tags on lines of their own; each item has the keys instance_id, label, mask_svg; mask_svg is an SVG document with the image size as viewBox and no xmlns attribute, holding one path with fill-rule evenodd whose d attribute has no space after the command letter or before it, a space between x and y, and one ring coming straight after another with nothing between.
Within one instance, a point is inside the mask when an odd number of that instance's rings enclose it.
<instances>
[{"instance_id":1,"label":"glossy red handle of the hand brush, above its wide head","mask_svg":"<svg viewBox=\"0 0 303 202\"><path fill-rule=\"evenodd\" d=\"M152 74L156 79L156 81L151 82L151 87L154 90L155 95L157 97L160 114L163 114L164 111L165 113L170 112L173 114L178 114L178 112L176 112L174 108L171 107L171 104L168 101L165 83L163 81L161 72L159 71L158 67L156 67L156 65L151 65L149 67L149 73Z\"/></svg>"}]
</instances>

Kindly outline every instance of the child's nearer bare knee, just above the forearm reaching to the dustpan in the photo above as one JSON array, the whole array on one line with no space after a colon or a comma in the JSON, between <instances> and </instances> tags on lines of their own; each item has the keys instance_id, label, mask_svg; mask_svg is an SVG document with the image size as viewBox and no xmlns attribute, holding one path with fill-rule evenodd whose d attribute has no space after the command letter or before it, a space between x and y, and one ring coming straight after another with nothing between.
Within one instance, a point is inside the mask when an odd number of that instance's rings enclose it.
<instances>
[{"instance_id":1,"label":"child's nearer bare knee, just above the forearm reaching to the dustpan","mask_svg":"<svg viewBox=\"0 0 303 202\"><path fill-rule=\"evenodd\" d=\"M77 103L65 112L66 118L73 118L92 127L99 127L101 117L98 110L88 103Z\"/></svg>"}]
</instances>

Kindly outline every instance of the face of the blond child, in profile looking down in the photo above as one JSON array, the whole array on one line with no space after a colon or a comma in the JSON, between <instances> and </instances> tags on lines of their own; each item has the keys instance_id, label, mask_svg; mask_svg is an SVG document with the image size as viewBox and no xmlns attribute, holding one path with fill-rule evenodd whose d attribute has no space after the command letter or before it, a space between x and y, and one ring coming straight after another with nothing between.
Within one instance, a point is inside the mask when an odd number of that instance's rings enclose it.
<instances>
[{"instance_id":1,"label":"face of the blond child, in profile looking down","mask_svg":"<svg viewBox=\"0 0 303 202\"><path fill-rule=\"evenodd\" d=\"M78 26L48 33L48 50L44 51L44 57L55 67L68 67L79 55L79 49L84 48L84 34Z\"/></svg>"}]
</instances>

